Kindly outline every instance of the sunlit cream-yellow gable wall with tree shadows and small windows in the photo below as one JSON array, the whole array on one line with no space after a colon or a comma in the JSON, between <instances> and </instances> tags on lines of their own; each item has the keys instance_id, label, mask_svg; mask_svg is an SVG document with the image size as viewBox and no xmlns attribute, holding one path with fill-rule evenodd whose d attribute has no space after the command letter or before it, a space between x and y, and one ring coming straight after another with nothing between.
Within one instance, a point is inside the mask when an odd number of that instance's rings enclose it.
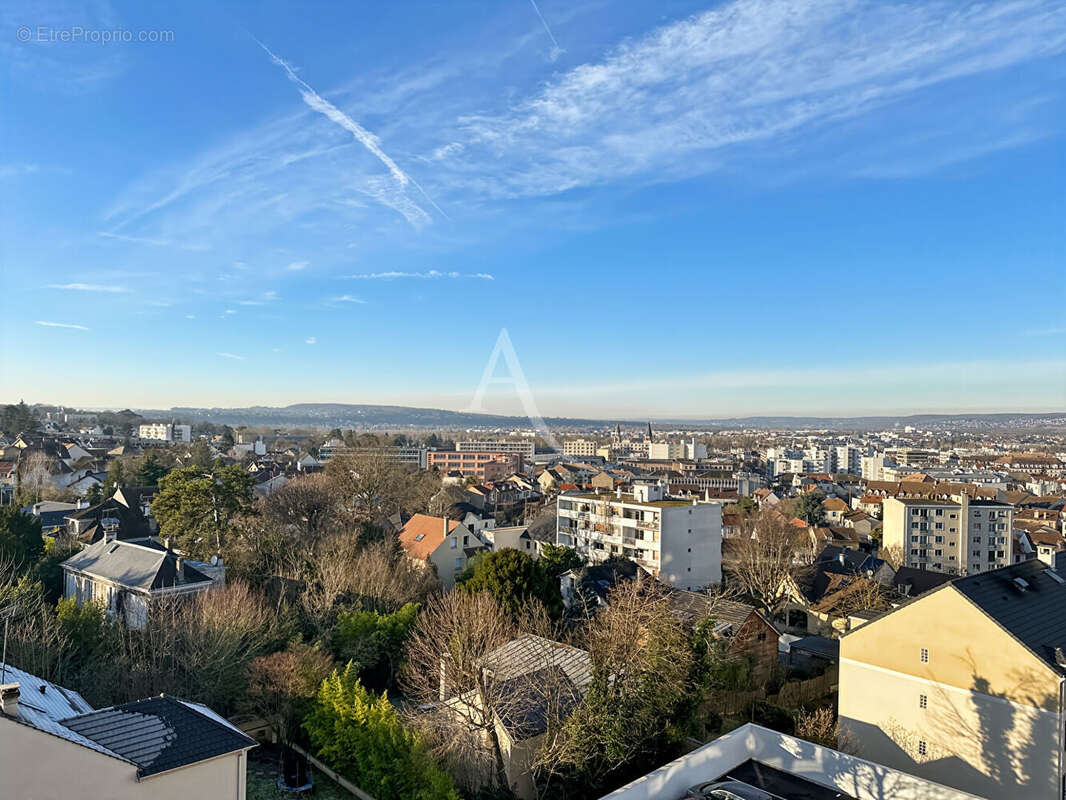
<instances>
[{"instance_id":1,"label":"sunlit cream-yellow gable wall with tree shadows and small windows","mask_svg":"<svg viewBox=\"0 0 1066 800\"><path fill-rule=\"evenodd\" d=\"M951 586L840 655L840 719L863 755L981 795L1060 797L1059 677Z\"/></svg>"}]
</instances>

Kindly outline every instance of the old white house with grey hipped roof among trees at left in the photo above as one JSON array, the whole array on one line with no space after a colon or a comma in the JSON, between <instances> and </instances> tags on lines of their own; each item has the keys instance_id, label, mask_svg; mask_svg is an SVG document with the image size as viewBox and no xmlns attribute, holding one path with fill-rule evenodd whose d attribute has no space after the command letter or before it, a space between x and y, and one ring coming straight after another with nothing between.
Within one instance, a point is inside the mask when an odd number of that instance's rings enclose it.
<instances>
[{"instance_id":1,"label":"old white house with grey hipped roof among trees at left","mask_svg":"<svg viewBox=\"0 0 1066 800\"><path fill-rule=\"evenodd\" d=\"M63 596L98 603L109 617L144 630L152 606L226 582L224 565L190 561L150 539L100 539L63 562Z\"/></svg>"}]
</instances>

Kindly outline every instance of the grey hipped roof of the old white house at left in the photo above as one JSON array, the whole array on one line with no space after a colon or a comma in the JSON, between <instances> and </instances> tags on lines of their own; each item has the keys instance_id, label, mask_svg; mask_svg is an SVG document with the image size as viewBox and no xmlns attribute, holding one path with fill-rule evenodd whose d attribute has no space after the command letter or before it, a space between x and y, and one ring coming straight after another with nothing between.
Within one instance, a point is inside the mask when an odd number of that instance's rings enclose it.
<instances>
[{"instance_id":1,"label":"grey hipped roof of the old white house at left","mask_svg":"<svg viewBox=\"0 0 1066 800\"><path fill-rule=\"evenodd\" d=\"M177 556L150 540L101 540L68 558L63 562L63 569L142 591L210 582L211 578L188 563L183 564L179 577L177 561Z\"/></svg>"}]
</instances>

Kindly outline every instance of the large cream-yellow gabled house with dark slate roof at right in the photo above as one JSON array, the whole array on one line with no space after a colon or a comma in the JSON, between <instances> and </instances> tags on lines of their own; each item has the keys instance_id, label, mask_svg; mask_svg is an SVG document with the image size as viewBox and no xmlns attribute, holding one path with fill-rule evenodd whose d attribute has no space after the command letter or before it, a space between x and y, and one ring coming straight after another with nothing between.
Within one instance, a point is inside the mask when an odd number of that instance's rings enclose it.
<instances>
[{"instance_id":1,"label":"large cream-yellow gabled house with dark slate roof at right","mask_svg":"<svg viewBox=\"0 0 1066 800\"><path fill-rule=\"evenodd\" d=\"M841 724L863 755L981 797L1061 800L1066 572L956 578L840 640Z\"/></svg>"}]
</instances>

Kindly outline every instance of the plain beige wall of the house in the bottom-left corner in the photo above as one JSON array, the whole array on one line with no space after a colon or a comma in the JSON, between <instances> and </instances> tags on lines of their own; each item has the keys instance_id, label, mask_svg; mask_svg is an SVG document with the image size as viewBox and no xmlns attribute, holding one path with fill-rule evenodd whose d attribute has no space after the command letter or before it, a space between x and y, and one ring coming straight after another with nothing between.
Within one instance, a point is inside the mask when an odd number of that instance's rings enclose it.
<instances>
[{"instance_id":1,"label":"plain beige wall of the house in the bottom-left corner","mask_svg":"<svg viewBox=\"0 0 1066 800\"><path fill-rule=\"evenodd\" d=\"M245 800L246 753L143 781L136 768L13 720L0 719L0 797L18 800Z\"/></svg>"}]
</instances>

